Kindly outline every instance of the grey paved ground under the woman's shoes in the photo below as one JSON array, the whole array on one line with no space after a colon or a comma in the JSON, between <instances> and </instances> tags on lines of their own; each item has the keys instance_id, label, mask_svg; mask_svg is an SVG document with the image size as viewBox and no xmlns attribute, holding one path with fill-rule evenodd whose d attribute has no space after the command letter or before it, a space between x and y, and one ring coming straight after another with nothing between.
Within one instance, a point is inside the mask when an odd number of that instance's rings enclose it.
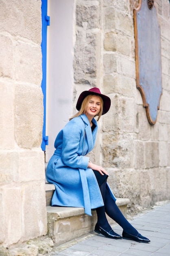
<instances>
[{"instance_id":1,"label":"grey paved ground under the woman's shoes","mask_svg":"<svg viewBox=\"0 0 170 256\"><path fill-rule=\"evenodd\" d=\"M130 223L150 239L150 243L137 243L132 240L105 238L95 232L71 243L55 248L51 256L167 256L170 255L170 202L153 207L140 214ZM122 228L113 227L122 235Z\"/></svg>"}]
</instances>

